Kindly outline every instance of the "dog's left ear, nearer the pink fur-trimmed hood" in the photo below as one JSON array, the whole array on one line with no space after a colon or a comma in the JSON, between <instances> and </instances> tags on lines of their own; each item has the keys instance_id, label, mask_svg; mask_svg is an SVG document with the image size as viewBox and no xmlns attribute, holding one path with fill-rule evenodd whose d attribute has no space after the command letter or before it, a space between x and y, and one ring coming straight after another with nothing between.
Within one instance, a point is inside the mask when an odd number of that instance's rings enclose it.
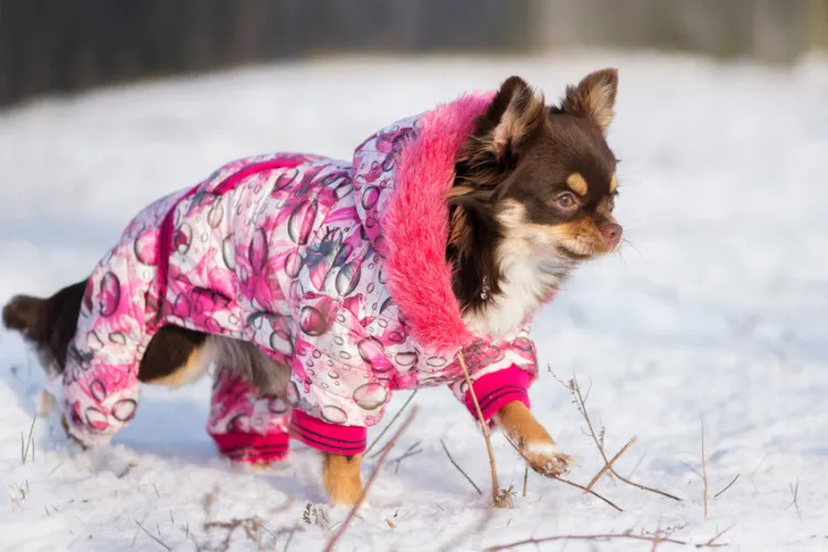
<instances>
[{"instance_id":1,"label":"dog's left ear, nearer the pink fur-trimmed hood","mask_svg":"<svg viewBox=\"0 0 828 552\"><path fill-rule=\"evenodd\" d=\"M543 98L526 81L511 76L500 85L474 136L499 162L508 162L542 124L544 109Z\"/></svg>"}]
</instances>

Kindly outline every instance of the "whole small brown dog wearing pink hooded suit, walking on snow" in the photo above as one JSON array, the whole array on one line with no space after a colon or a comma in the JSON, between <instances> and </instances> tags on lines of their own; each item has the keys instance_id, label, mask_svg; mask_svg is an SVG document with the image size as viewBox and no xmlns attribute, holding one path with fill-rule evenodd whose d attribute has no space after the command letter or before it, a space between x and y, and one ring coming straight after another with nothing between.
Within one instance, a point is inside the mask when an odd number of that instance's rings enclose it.
<instances>
[{"instance_id":1,"label":"whole small brown dog wearing pink hooded suit, walking on snow","mask_svg":"<svg viewBox=\"0 0 828 552\"><path fill-rule=\"evenodd\" d=\"M64 389L64 427L102 446L138 382L216 368L209 432L240 461L288 437L323 454L335 503L394 389L447 384L546 475L570 458L529 411L531 315L580 263L618 248L605 135L617 72L548 106L519 77L371 136L351 161L278 153L229 163L131 221L89 278L17 296L3 322Z\"/></svg>"}]
</instances>

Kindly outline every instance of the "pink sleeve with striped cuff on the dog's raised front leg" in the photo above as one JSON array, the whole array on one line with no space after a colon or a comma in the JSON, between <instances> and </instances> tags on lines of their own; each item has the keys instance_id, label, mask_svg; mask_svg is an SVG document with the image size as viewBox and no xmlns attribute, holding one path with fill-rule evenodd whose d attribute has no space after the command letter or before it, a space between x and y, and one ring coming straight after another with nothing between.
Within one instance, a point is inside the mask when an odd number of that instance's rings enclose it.
<instances>
[{"instance_id":1,"label":"pink sleeve with striped cuff on the dog's raised front leg","mask_svg":"<svg viewBox=\"0 0 828 552\"><path fill-rule=\"evenodd\" d=\"M480 341L461 352L480 411L487 422L507 403L518 401L530 406L529 386L538 378L538 355L534 343L529 339L530 329L530 322L526 322L513 339ZM458 370L460 378L452 382L449 388L477 418L477 411L459 365Z\"/></svg>"}]
</instances>

